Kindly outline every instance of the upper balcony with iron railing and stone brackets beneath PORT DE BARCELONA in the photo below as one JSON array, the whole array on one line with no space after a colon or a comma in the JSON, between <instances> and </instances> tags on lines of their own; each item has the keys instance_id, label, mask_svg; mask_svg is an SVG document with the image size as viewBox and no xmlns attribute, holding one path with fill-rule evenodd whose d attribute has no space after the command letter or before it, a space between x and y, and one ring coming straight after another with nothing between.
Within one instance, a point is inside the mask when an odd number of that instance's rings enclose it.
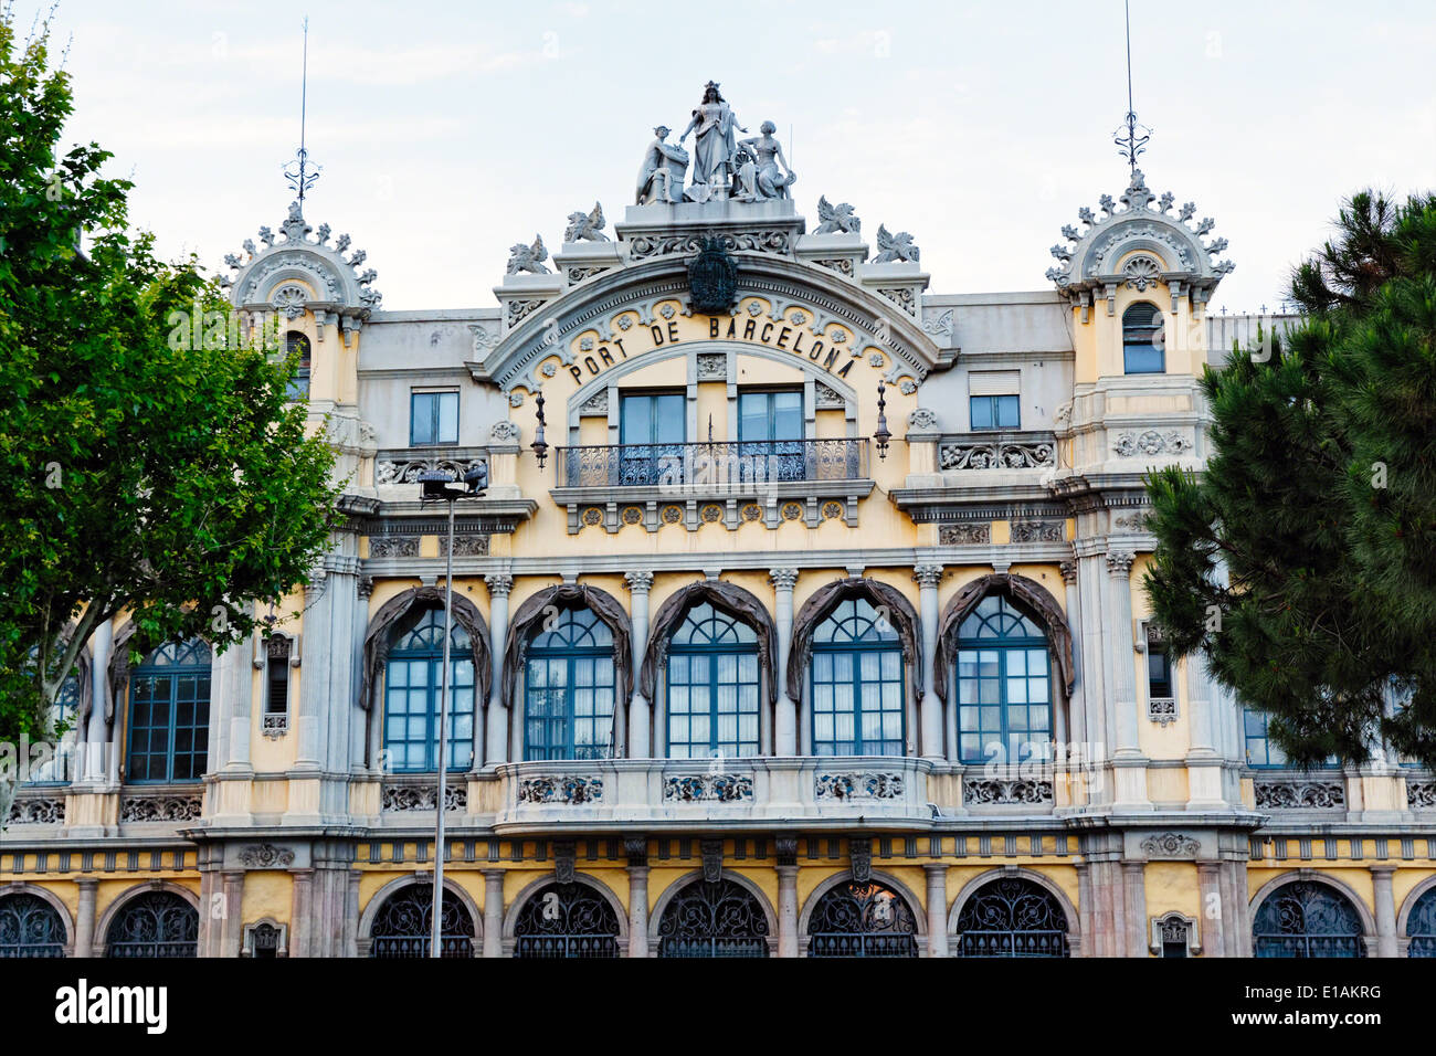
<instances>
[{"instance_id":1,"label":"upper balcony with iron railing and stone brackets beneath PORT DE BARCELONA","mask_svg":"<svg viewBox=\"0 0 1436 1056\"><path fill-rule=\"evenodd\" d=\"M556 461L551 496L569 510L570 534L630 524L817 527L836 517L856 526L857 503L873 490L860 437L564 447Z\"/></svg>"}]
</instances>

